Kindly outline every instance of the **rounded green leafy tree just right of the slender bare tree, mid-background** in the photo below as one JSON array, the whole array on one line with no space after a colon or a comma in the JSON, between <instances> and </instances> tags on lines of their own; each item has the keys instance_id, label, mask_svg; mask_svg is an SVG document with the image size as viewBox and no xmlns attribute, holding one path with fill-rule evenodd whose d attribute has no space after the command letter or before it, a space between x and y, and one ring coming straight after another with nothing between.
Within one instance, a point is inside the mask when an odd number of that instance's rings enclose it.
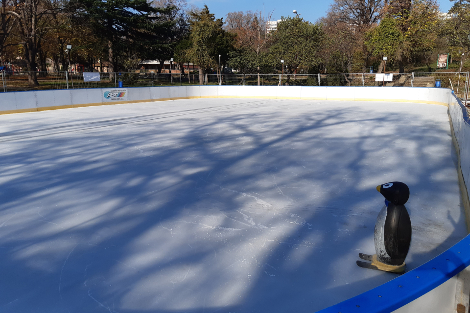
<instances>
[{"instance_id":1,"label":"rounded green leafy tree just right of the slender bare tree, mid-background","mask_svg":"<svg viewBox=\"0 0 470 313\"><path fill-rule=\"evenodd\" d=\"M284 60L288 84L290 74L297 68L308 70L320 63L318 52L323 43L321 24L312 24L299 17L282 18L273 35L271 62L279 67L280 60Z\"/></svg>"}]
</instances>

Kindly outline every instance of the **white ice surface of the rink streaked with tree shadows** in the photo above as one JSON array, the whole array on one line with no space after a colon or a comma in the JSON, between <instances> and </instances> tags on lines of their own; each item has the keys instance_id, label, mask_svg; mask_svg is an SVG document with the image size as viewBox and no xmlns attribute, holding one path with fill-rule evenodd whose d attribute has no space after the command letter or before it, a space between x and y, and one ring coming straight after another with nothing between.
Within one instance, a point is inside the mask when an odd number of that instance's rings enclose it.
<instances>
[{"instance_id":1,"label":"white ice surface of the rink streaked with tree shadows","mask_svg":"<svg viewBox=\"0 0 470 313\"><path fill-rule=\"evenodd\" d=\"M447 107L192 99L0 115L0 311L315 312L395 278L374 253L411 195L407 269L467 235Z\"/></svg>"}]
</instances>

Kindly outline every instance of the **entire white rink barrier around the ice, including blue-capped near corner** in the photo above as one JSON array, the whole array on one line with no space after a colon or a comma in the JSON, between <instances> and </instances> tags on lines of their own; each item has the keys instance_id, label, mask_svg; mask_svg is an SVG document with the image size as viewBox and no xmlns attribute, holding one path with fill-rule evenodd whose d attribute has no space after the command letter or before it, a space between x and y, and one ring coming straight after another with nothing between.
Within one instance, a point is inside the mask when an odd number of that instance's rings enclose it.
<instances>
[{"instance_id":1,"label":"entire white rink barrier around the ice, including blue-capped near corner","mask_svg":"<svg viewBox=\"0 0 470 313\"><path fill-rule=\"evenodd\" d=\"M121 103L193 98L262 98L342 101L413 102L448 107L452 141L469 227L470 121L465 107L450 89L301 86L182 86L127 88L127 100L105 102L109 89L62 89L3 93L0 114L35 112ZM308 103L306 101L305 103ZM338 105L341 105L338 102ZM420 313L469 310L470 235L450 249L397 278L340 302L321 313ZM379 297L380 296L380 297ZM461 309L461 308L460 308Z\"/></svg>"}]
</instances>

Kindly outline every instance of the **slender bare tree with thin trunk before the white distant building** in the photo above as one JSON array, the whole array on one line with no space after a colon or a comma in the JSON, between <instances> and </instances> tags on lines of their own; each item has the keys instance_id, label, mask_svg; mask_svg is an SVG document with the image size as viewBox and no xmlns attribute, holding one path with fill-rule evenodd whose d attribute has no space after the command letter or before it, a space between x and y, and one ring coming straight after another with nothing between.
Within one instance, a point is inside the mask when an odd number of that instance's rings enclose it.
<instances>
[{"instance_id":1,"label":"slender bare tree with thin trunk before the white distant building","mask_svg":"<svg viewBox=\"0 0 470 313\"><path fill-rule=\"evenodd\" d=\"M226 30L236 34L237 45L247 47L259 55L271 40L272 32L269 21L274 10L266 12L264 9L256 12L231 12L227 14ZM260 67L258 64L258 86L260 85Z\"/></svg>"}]
</instances>

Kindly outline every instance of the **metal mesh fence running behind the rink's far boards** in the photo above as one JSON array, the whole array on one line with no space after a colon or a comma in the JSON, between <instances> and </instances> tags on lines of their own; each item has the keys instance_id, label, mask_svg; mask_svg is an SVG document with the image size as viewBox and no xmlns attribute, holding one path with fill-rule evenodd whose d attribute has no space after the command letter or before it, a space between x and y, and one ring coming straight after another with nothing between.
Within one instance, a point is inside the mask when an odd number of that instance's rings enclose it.
<instances>
[{"instance_id":1,"label":"metal mesh fence running behind the rink's far boards","mask_svg":"<svg viewBox=\"0 0 470 313\"><path fill-rule=\"evenodd\" d=\"M82 72L67 71L34 72L38 85L30 83L32 72L0 72L3 92L47 89L158 87L199 85L198 73L155 73L155 72L99 72L99 81L86 81ZM95 72L94 74L98 74ZM224 86L375 86L381 87L434 87L436 80L441 88L449 88L464 99L469 84L469 72L434 73L393 73L390 81L383 81L382 74L204 74L201 85ZM376 81L376 77L379 79ZM1 89L0 89L1 92Z\"/></svg>"}]
</instances>

